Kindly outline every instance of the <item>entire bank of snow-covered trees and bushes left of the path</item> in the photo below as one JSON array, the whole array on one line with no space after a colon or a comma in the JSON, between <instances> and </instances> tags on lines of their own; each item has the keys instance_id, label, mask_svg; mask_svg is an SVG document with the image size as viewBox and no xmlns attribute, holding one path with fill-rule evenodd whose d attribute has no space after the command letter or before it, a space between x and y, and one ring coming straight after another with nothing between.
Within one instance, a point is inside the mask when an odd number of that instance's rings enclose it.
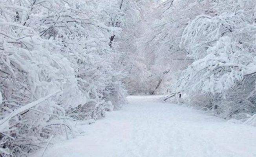
<instances>
[{"instance_id":1,"label":"entire bank of snow-covered trees and bushes left of the path","mask_svg":"<svg viewBox=\"0 0 256 157\"><path fill-rule=\"evenodd\" d=\"M137 16L126 11L136 10L132 4L0 2L0 156L31 153L51 135L69 138L69 120L96 120L120 108L122 42L113 36L125 37L127 19Z\"/></svg>"}]
</instances>

